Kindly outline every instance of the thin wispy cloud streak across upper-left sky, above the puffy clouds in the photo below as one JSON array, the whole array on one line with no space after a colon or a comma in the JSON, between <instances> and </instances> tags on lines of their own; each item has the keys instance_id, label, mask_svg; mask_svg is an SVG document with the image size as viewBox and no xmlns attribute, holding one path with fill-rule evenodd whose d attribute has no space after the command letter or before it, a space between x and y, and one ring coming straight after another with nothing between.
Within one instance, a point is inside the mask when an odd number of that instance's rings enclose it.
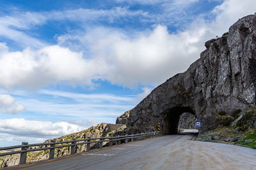
<instances>
[{"instance_id":1,"label":"thin wispy cloud streak across upper-left sky, above the puffy clouds","mask_svg":"<svg viewBox=\"0 0 256 170\"><path fill-rule=\"evenodd\" d=\"M0 17L0 36L15 41L22 48L28 46L43 48L48 45L44 40L34 38L28 31L24 31L33 30L35 26L47 24L49 20L71 20L83 24L106 20L111 23L117 18L136 16L148 18L148 13L141 10L129 10L127 7L115 7L110 10L79 8L76 10L43 12L14 11L11 15Z\"/></svg>"}]
</instances>

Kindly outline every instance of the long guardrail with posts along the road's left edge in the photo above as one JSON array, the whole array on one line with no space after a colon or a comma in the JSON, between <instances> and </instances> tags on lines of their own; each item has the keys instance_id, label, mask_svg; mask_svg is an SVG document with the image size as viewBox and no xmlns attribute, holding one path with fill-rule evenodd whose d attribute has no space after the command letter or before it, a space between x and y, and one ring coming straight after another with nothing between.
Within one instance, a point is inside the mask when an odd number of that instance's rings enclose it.
<instances>
[{"instance_id":1,"label":"long guardrail with posts along the road's left edge","mask_svg":"<svg viewBox=\"0 0 256 170\"><path fill-rule=\"evenodd\" d=\"M159 134L158 132L149 132L149 133L141 133L141 134L131 134L131 135L125 135L125 136L115 136L115 137L109 137L109 138L86 138L86 139L72 139L72 141L54 141L52 140L51 143L36 143L36 144L29 144L26 142L22 142L22 145L17 146L7 146L7 147L1 147L1 150L13 150L17 148L21 148L20 150L14 151L14 152L5 152L0 153L1 156L5 155L13 155L20 153L20 162L19 164L26 164L27 160L27 153L28 152L35 152L40 150L50 150L49 152L49 159L54 159L54 150L56 148L64 148L64 147L70 147L70 154L76 153L76 146L77 145L84 145L86 144L86 152L89 152L91 150L91 143L99 143L99 148L102 148L103 142L109 142L109 146L113 146L113 142L115 142L115 145L120 145L122 141L124 143L133 142L134 140L137 140L139 138L145 138L147 136L152 136L153 138ZM67 143L67 145L59 145ZM70 143L70 144L68 144ZM56 146L57 145L57 146ZM39 148L31 148L32 146L39 146Z\"/></svg>"}]
</instances>

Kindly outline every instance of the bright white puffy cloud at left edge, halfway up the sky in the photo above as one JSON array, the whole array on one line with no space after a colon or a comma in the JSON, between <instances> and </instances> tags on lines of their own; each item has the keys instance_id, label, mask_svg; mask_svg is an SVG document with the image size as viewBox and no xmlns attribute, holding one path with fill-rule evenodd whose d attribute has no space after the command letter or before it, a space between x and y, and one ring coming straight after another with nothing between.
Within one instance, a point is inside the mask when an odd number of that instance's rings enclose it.
<instances>
[{"instance_id":1,"label":"bright white puffy cloud at left edge, halfway up the sky","mask_svg":"<svg viewBox=\"0 0 256 170\"><path fill-rule=\"evenodd\" d=\"M90 84L100 71L97 66L100 64L96 60L83 59L82 53L58 45L41 50L3 52L0 53L0 85L6 89L35 89L61 81Z\"/></svg>"}]
</instances>

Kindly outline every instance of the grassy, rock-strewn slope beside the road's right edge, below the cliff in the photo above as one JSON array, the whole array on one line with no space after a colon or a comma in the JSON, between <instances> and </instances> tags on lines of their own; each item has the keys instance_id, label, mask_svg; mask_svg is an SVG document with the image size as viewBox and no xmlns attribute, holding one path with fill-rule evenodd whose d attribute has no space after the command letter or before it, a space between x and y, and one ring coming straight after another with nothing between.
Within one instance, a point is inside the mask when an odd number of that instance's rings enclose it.
<instances>
[{"instance_id":1,"label":"grassy, rock-strewn slope beside the road's right edge, below the cliff","mask_svg":"<svg viewBox=\"0 0 256 170\"><path fill-rule=\"evenodd\" d=\"M220 117L227 117L221 113ZM232 124L200 134L199 141L213 141L256 149L256 109L237 110Z\"/></svg>"}]
</instances>

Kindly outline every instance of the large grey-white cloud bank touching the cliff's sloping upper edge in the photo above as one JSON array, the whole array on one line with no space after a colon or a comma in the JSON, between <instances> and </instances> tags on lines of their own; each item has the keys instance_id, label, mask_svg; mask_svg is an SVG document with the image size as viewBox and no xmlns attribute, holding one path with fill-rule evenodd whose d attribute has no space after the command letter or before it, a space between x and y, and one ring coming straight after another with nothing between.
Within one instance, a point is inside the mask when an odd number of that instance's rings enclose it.
<instances>
[{"instance_id":1,"label":"large grey-white cloud bank touching the cliff's sloping upper edge","mask_svg":"<svg viewBox=\"0 0 256 170\"><path fill-rule=\"evenodd\" d=\"M238 11L236 6L239 6ZM61 43L70 45L70 39L77 39L82 46L88 45L94 59L104 61L104 67L108 68L100 77L111 83L126 87L138 83L159 85L174 74L186 71L200 57L205 41L227 32L238 18L253 14L254 6L256 1L224 1L211 13L200 15L176 33L168 32L164 25L132 35L98 27L85 34L63 36ZM216 17L206 20L207 15Z\"/></svg>"}]
</instances>

